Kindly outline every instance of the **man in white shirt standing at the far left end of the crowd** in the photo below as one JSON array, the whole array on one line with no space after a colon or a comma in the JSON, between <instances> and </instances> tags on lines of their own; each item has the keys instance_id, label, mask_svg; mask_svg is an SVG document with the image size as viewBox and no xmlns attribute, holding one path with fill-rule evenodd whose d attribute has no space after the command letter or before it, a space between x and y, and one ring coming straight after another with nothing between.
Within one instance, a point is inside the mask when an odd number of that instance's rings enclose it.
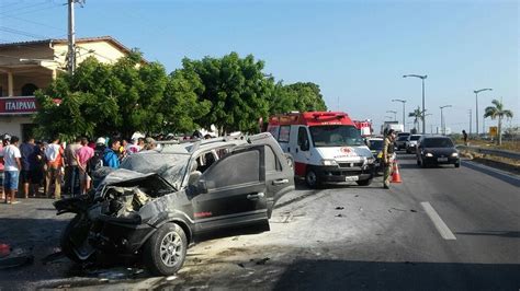
<instances>
[{"instance_id":1,"label":"man in white shirt standing at the far left end of the crowd","mask_svg":"<svg viewBox=\"0 0 520 291\"><path fill-rule=\"evenodd\" d=\"M11 144L3 148L4 178L3 188L5 190L5 203L15 203L15 194L18 190L18 181L22 164L20 158L22 154L18 148L20 139L11 137Z\"/></svg>"}]
</instances>

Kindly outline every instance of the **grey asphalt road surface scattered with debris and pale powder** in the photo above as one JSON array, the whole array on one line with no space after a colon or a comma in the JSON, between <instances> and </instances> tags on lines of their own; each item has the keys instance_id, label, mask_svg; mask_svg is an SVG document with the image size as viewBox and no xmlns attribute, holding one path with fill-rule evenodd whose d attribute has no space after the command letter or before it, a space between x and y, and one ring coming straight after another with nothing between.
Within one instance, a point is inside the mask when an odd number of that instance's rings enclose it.
<instances>
[{"instance_id":1,"label":"grey asphalt road surface scattered with debris and pale powder","mask_svg":"<svg viewBox=\"0 0 520 291\"><path fill-rule=\"evenodd\" d=\"M404 183L382 189L298 186L282 198L271 231L223 233L189 249L168 278L138 265L78 266L57 251L67 218L50 201L0 206L0 243L34 263L0 270L2 288L274 290L519 290L520 179L468 162L419 168L399 155Z\"/></svg>"}]
</instances>

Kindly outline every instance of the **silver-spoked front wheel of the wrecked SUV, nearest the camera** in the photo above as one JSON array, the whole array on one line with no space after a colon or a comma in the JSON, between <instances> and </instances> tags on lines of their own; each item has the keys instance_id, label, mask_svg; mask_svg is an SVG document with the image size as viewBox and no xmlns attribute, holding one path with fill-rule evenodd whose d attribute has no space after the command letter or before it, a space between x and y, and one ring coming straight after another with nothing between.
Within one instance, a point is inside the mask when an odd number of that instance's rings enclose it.
<instances>
[{"instance_id":1,"label":"silver-spoked front wheel of the wrecked SUV, nearest the camera","mask_svg":"<svg viewBox=\"0 0 520 291\"><path fill-rule=\"evenodd\" d=\"M182 228L166 223L146 242L143 256L151 273L168 276L182 267L186 248L188 240Z\"/></svg>"}]
</instances>

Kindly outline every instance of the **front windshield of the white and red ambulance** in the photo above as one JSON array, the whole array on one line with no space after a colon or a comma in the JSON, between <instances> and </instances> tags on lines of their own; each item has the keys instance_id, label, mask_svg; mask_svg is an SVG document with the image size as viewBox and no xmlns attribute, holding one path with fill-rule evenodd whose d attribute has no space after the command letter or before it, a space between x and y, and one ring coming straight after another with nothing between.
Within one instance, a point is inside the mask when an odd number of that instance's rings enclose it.
<instances>
[{"instance_id":1,"label":"front windshield of the white and red ambulance","mask_svg":"<svg viewBox=\"0 0 520 291\"><path fill-rule=\"evenodd\" d=\"M364 146L360 130L353 126L325 125L309 127L314 147Z\"/></svg>"}]
</instances>

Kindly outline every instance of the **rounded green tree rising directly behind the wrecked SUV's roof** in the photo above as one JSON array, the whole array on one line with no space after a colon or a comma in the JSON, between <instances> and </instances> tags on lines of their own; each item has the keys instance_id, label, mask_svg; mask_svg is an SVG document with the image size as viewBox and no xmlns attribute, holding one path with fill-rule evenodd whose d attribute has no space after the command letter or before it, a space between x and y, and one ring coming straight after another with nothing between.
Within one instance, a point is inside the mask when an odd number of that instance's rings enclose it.
<instances>
[{"instance_id":1,"label":"rounded green tree rising directly behind the wrecked SUV's roof","mask_svg":"<svg viewBox=\"0 0 520 291\"><path fill-rule=\"evenodd\" d=\"M263 67L263 61L252 55L240 58L236 53L184 59L183 69L196 72L204 85L201 96L211 102L210 113L197 123L206 128L214 124L222 132L258 130L258 119L268 115L273 82L262 72Z\"/></svg>"}]
</instances>

